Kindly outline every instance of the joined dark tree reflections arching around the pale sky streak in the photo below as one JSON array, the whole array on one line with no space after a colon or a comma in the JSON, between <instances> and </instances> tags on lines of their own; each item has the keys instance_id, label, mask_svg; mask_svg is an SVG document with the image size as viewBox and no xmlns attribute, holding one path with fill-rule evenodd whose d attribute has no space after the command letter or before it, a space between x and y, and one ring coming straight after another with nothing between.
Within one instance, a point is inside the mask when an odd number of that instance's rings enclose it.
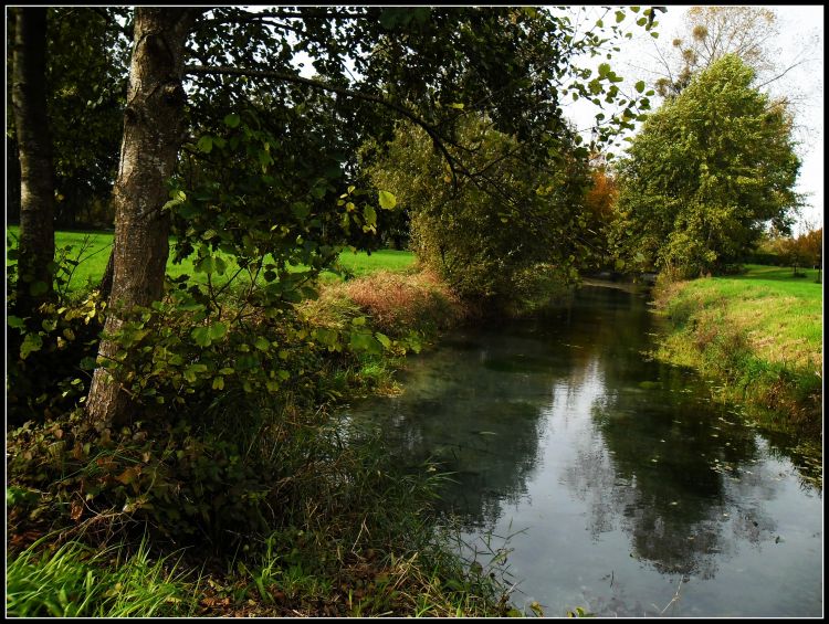
<instances>
[{"instance_id":1,"label":"joined dark tree reflections arching around the pale sky streak","mask_svg":"<svg viewBox=\"0 0 829 624\"><path fill-rule=\"evenodd\" d=\"M409 360L402 396L360 411L402 465L431 457L454 473L444 509L489 526L526 496L539 436L555 435L562 405L597 377L594 434L564 475L589 505L589 530L621 529L660 572L709 579L733 539L774 539L763 501L775 489L755 432L694 391L692 372L643 357L652 330L642 299L594 289L536 322L459 334Z\"/></svg>"}]
</instances>

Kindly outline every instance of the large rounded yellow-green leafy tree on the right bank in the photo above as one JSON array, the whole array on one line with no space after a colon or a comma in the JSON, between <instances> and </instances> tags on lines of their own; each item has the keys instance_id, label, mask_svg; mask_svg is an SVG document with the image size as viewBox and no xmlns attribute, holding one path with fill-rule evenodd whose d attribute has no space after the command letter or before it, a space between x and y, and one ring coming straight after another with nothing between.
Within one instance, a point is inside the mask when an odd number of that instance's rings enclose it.
<instances>
[{"instance_id":1,"label":"large rounded yellow-green leafy tree on the right bank","mask_svg":"<svg viewBox=\"0 0 829 624\"><path fill-rule=\"evenodd\" d=\"M613 244L629 268L723 269L799 204L786 110L725 56L649 116L620 167Z\"/></svg>"}]
</instances>

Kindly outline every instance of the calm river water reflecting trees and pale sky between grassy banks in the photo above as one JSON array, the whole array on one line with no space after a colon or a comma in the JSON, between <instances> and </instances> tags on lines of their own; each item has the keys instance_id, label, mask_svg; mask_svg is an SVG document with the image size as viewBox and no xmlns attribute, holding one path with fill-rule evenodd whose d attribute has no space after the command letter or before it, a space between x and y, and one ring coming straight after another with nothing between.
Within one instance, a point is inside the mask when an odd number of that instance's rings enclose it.
<instances>
[{"instance_id":1,"label":"calm river water reflecting trees and pale sky between grassy banks","mask_svg":"<svg viewBox=\"0 0 829 624\"><path fill-rule=\"evenodd\" d=\"M650 359L659 322L643 295L588 286L447 336L408 358L402 394L347 413L405 466L452 473L442 510L483 565L508 552L527 614L822 615L819 458Z\"/></svg>"}]
</instances>

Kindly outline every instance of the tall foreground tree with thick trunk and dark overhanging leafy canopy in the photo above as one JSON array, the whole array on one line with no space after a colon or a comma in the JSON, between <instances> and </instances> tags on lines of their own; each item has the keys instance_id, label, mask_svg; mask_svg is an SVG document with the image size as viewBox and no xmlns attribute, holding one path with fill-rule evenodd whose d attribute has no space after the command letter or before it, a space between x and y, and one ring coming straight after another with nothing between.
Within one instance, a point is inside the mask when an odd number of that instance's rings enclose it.
<instances>
[{"instance_id":1,"label":"tall foreground tree with thick trunk and dark overhanging leafy canopy","mask_svg":"<svg viewBox=\"0 0 829 624\"><path fill-rule=\"evenodd\" d=\"M366 138L390 136L393 119L407 118L427 133L452 178L469 176L448 146L459 145L459 112L474 109L543 157L560 139L562 85L584 77L574 60L609 41L598 31L576 36L568 19L550 11L508 7L145 8L136 9L135 30L105 361L117 351L119 310L160 296L167 211L181 225L180 251L198 248L202 267L221 248L254 263L267 254L283 264L307 258L319 271L336 257L332 243L355 225L376 229L374 208L355 210L348 201ZM301 74L297 55L311 59L315 76ZM187 110L182 73L191 81ZM601 93L613 77L605 72L590 91ZM626 106L637 109L634 102ZM167 202L165 178L182 142L214 179L197 176L190 184L180 170ZM220 159L241 176L216 179L228 170ZM335 241L332 218L342 230ZM109 381L97 370L87 399L101 423L128 412L126 395Z\"/></svg>"}]
</instances>

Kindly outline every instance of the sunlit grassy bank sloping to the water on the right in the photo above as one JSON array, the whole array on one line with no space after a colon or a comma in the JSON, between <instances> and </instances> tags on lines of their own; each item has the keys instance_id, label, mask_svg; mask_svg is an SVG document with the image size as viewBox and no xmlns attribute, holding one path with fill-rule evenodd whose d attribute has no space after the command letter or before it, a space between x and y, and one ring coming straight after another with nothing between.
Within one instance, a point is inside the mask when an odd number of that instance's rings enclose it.
<instances>
[{"instance_id":1,"label":"sunlit grassy bank sloping to the water on the right","mask_svg":"<svg viewBox=\"0 0 829 624\"><path fill-rule=\"evenodd\" d=\"M714 380L716 396L765 424L822 431L822 284L817 271L747 265L742 275L660 284L671 331L657 356Z\"/></svg>"}]
</instances>

